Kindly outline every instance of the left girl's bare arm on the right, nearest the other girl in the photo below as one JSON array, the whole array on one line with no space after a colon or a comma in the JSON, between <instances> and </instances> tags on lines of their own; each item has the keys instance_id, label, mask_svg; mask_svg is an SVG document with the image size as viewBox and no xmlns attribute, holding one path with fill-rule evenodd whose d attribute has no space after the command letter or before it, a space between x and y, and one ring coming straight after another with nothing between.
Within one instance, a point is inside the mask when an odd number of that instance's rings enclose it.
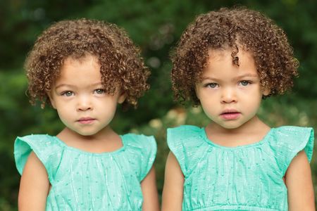
<instances>
[{"instance_id":1,"label":"left girl's bare arm on the right, nearest the other girl","mask_svg":"<svg viewBox=\"0 0 317 211\"><path fill-rule=\"evenodd\" d=\"M156 188L155 169L151 168L147 177L141 182L143 194L143 211L158 211L159 210L159 196Z\"/></svg>"}]
</instances>

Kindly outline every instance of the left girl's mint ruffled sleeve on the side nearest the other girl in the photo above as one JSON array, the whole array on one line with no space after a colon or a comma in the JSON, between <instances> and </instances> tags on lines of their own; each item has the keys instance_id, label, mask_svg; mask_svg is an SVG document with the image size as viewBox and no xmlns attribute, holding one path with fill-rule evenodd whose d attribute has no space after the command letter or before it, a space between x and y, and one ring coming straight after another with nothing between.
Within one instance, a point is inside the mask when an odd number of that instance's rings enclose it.
<instances>
[{"instance_id":1,"label":"left girl's mint ruffled sleeve on the side nearest the other girl","mask_svg":"<svg viewBox=\"0 0 317 211\"><path fill-rule=\"evenodd\" d=\"M138 171L139 181L142 181L151 170L156 158L156 141L154 136L144 136L138 134L126 134L126 140L129 148L129 158L132 165Z\"/></svg>"}]
</instances>

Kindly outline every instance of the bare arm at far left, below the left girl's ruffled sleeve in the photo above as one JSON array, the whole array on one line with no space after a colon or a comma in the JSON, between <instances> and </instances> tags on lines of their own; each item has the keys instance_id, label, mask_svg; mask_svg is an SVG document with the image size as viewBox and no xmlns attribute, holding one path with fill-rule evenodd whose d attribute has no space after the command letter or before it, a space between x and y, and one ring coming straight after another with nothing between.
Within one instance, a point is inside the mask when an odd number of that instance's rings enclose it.
<instances>
[{"instance_id":1,"label":"bare arm at far left, below the left girl's ruffled sleeve","mask_svg":"<svg viewBox=\"0 0 317 211\"><path fill-rule=\"evenodd\" d=\"M20 181L18 210L45 210L49 178L42 162L30 153Z\"/></svg>"}]
</instances>

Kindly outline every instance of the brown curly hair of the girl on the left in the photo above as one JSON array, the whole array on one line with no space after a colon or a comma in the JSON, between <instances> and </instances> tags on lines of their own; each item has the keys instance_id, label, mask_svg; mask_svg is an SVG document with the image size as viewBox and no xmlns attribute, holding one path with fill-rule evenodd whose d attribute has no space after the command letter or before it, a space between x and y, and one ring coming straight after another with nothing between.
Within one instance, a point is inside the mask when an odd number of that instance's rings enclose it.
<instances>
[{"instance_id":1,"label":"brown curly hair of the girl on the left","mask_svg":"<svg viewBox=\"0 0 317 211\"><path fill-rule=\"evenodd\" d=\"M106 93L114 94L116 84L125 93L123 108L137 106L137 98L149 89L149 70L139 49L125 30L101 20L62 20L51 25L37 38L25 61L30 103L37 99L42 108L49 103L51 91L66 58L82 58L91 54L101 65L101 82Z\"/></svg>"}]
</instances>

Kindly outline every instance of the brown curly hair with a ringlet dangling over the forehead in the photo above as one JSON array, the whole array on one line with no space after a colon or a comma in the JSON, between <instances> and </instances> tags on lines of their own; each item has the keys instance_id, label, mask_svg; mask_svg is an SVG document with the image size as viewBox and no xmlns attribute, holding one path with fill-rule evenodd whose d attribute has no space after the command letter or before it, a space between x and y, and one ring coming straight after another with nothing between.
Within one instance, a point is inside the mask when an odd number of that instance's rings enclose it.
<instances>
[{"instance_id":1,"label":"brown curly hair with a ringlet dangling over the forehead","mask_svg":"<svg viewBox=\"0 0 317 211\"><path fill-rule=\"evenodd\" d=\"M299 62L285 32L265 15L244 7L220 8L197 16L171 53L175 100L199 105L195 84L209 57L209 49L231 49L232 63L239 65L239 47L254 56L261 86L270 96L283 94L293 85Z\"/></svg>"}]
</instances>

